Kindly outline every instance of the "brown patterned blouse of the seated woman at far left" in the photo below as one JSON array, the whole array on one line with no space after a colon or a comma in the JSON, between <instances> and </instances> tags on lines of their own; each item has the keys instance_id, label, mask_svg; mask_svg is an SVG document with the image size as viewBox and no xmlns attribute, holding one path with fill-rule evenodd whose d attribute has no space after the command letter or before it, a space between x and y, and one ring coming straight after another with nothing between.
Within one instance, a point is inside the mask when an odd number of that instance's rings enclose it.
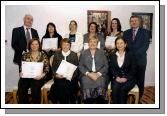
<instances>
[{"instance_id":1,"label":"brown patterned blouse of the seated woman at far left","mask_svg":"<svg viewBox=\"0 0 167 116\"><path fill-rule=\"evenodd\" d=\"M41 51L39 52L39 55L34 59L31 55L31 52L26 52L22 55L22 61L26 62L43 62L43 73L48 73L49 72L49 60L47 55Z\"/></svg>"}]
</instances>

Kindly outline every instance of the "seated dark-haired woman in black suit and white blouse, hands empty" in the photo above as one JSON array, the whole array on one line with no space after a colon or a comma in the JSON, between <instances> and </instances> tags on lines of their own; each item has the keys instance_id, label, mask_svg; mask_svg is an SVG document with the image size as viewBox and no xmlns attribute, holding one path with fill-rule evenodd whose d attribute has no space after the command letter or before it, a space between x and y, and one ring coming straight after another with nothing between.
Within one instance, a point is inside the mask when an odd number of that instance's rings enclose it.
<instances>
[{"instance_id":1,"label":"seated dark-haired woman in black suit and white blouse, hands empty","mask_svg":"<svg viewBox=\"0 0 167 116\"><path fill-rule=\"evenodd\" d=\"M123 37L115 40L116 52L110 59L110 71L112 72L112 102L114 104L126 104L129 91L135 86L134 77L136 71L135 59L132 52L127 49L127 42Z\"/></svg>"}]
</instances>

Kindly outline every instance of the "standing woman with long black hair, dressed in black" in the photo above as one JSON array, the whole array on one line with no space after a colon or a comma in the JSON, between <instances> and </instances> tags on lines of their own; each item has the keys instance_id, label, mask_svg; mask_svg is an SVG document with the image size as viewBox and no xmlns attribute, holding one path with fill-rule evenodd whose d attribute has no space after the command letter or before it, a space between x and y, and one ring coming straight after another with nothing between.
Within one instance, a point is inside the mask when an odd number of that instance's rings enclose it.
<instances>
[{"instance_id":1,"label":"standing woman with long black hair, dressed in black","mask_svg":"<svg viewBox=\"0 0 167 116\"><path fill-rule=\"evenodd\" d=\"M60 41L62 40L62 36L57 33L56 26L52 22L47 24L46 33L42 37L41 44L43 44L43 39L48 39L48 38L57 38L58 39L58 48L57 49L52 48L52 49L45 49L44 50L48 56L48 59L50 60L50 57L54 54L54 52L57 50L60 50ZM50 79L52 79L51 66L49 68L49 73L47 74L46 81L48 81Z\"/></svg>"}]
</instances>

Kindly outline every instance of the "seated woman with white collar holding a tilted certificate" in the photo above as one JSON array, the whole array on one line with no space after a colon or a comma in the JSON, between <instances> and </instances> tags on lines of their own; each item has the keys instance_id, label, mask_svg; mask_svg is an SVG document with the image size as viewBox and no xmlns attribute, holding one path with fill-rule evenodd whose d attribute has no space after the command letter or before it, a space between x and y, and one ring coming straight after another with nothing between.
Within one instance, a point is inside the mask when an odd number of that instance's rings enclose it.
<instances>
[{"instance_id":1,"label":"seated woman with white collar holding a tilted certificate","mask_svg":"<svg viewBox=\"0 0 167 116\"><path fill-rule=\"evenodd\" d=\"M78 86L78 57L70 50L71 42L64 38L60 43L61 51L53 57L52 73L54 84L51 86L49 99L52 103L75 103Z\"/></svg>"}]
</instances>

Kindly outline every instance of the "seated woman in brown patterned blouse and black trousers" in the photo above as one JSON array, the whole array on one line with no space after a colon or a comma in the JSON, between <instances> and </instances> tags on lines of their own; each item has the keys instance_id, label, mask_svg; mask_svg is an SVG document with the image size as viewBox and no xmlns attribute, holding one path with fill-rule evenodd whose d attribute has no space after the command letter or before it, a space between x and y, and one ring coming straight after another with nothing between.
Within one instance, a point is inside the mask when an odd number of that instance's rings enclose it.
<instances>
[{"instance_id":1,"label":"seated woman in brown patterned blouse and black trousers","mask_svg":"<svg viewBox=\"0 0 167 116\"><path fill-rule=\"evenodd\" d=\"M41 101L41 87L45 83L46 74L49 72L49 61L47 55L41 51L39 39L31 39L28 45L29 52L22 55L22 61L25 62L43 62L43 73L34 78L22 78L20 73L18 83L18 98L20 104L28 104L28 89L31 88L32 102L39 104ZM21 71L22 69L20 69Z\"/></svg>"}]
</instances>

